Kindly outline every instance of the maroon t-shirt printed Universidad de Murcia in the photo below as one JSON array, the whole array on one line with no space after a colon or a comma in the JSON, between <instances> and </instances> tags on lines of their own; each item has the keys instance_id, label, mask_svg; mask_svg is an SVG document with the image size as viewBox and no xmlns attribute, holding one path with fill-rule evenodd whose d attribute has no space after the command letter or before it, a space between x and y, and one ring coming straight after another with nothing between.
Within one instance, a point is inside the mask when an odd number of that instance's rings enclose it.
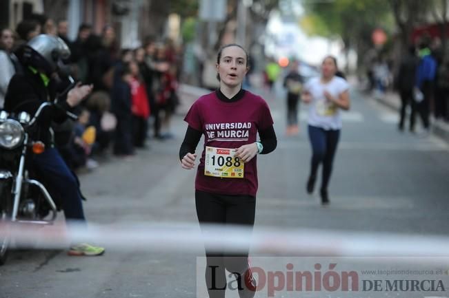
<instances>
[{"instance_id":1,"label":"maroon t-shirt printed Universidad de Murcia","mask_svg":"<svg viewBox=\"0 0 449 298\"><path fill-rule=\"evenodd\" d=\"M257 156L245 163L243 178L218 178L204 175L205 147L235 149L257 140L257 131L273 125L268 105L261 96L246 91L239 100L226 103L212 92L198 98L184 120L202 131L205 142L199 160L195 189L223 195L257 193Z\"/></svg>"}]
</instances>

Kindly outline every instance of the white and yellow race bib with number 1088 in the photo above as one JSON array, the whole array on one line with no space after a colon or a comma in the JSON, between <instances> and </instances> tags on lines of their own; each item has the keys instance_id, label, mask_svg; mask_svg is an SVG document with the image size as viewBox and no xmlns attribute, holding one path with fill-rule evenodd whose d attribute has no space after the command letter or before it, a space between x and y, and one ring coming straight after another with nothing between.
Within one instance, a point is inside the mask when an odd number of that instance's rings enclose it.
<instances>
[{"instance_id":1,"label":"white and yellow race bib with number 1088","mask_svg":"<svg viewBox=\"0 0 449 298\"><path fill-rule=\"evenodd\" d=\"M237 149L206 146L204 175L219 178L243 178L244 164L235 157Z\"/></svg>"}]
</instances>

